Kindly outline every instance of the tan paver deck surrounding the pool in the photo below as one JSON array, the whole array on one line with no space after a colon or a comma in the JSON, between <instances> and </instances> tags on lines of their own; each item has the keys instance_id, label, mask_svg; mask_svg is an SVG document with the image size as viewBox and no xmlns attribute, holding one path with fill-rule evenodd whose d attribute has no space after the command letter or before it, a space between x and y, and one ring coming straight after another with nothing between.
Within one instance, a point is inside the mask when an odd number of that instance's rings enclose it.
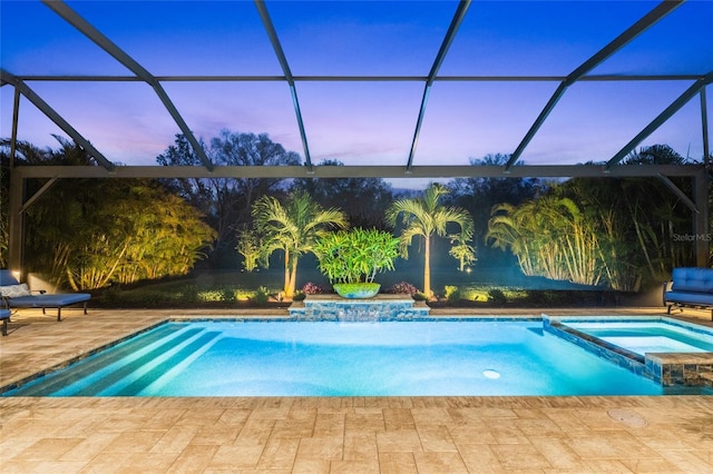
<instances>
[{"instance_id":1,"label":"tan paver deck surrounding the pool","mask_svg":"<svg viewBox=\"0 0 713 474\"><path fill-rule=\"evenodd\" d=\"M431 315L458 313L663 314ZM168 317L248 314L274 312L22 310L0 386ZM0 472L713 473L713 397L0 398Z\"/></svg>"}]
</instances>

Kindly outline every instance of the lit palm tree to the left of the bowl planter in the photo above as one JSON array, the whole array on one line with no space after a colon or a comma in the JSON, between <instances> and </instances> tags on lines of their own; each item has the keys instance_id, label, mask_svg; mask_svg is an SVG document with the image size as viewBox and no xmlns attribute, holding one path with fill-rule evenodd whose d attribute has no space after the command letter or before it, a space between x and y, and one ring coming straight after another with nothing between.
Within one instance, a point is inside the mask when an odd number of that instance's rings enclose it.
<instances>
[{"instance_id":1,"label":"lit palm tree to the left of the bowl planter","mask_svg":"<svg viewBox=\"0 0 713 474\"><path fill-rule=\"evenodd\" d=\"M265 257L275 250L285 254L285 297L292 298L297 277L297 260L313 250L318 237L333 228L346 227L346 216L339 209L323 209L306 192L297 192L284 206L272 196L253 205L255 227L264 237Z\"/></svg>"}]
</instances>

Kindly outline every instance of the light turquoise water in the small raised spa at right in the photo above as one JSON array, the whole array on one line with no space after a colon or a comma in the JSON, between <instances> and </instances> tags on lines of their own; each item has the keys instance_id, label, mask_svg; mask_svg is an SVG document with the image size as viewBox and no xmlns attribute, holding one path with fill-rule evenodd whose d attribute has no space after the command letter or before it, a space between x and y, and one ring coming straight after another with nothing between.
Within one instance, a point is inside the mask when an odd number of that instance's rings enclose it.
<instances>
[{"instance_id":1,"label":"light turquoise water in the small raised spa at right","mask_svg":"<svg viewBox=\"0 0 713 474\"><path fill-rule=\"evenodd\" d=\"M565 325L636 354L713 353L713 332L693 330L665 320L565 322Z\"/></svg>"}]
</instances>

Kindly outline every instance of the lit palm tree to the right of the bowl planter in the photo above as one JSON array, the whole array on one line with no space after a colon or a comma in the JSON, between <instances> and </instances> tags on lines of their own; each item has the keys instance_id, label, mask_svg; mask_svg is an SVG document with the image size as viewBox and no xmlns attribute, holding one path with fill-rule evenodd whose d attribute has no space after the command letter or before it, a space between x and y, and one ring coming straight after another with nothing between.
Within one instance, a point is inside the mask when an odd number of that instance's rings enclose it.
<instances>
[{"instance_id":1,"label":"lit palm tree to the right of the bowl planter","mask_svg":"<svg viewBox=\"0 0 713 474\"><path fill-rule=\"evenodd\" d=\"M423 247L423 293L431 296L431 237L433 234L446 236L448 224L457 224L460 233L451 237L452 241L465 243L472 238L473 224L470 214L460 207L446 207L438 201L448 189L439 184L430 185L423 196L412 199L400 199L387 209L387 221L395 226L403 224L401 231L401 254L408 258L408 248L414 236L421 236Z\"/></svg>"}]
</instances>

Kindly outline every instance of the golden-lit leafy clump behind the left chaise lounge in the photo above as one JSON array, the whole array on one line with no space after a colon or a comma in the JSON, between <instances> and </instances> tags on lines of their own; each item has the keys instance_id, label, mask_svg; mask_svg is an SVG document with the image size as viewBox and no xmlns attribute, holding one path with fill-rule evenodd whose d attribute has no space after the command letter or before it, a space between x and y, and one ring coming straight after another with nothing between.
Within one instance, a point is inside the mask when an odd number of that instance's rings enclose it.
<instances>
[{"instance_id":1,"label":"golden-lit leafy clump behind the left chaise lounge","mask_svg":"<svg viewBox=\"0 0 713 474\"><path fill-rule=\"evenodd\" d=\"M159 188L126 181L102 189L124 186L86 210L76 235L55 244L55 271L64 268L74 289L185 275L215 235L194 208Z\"/></svg>"}]
</instances>

